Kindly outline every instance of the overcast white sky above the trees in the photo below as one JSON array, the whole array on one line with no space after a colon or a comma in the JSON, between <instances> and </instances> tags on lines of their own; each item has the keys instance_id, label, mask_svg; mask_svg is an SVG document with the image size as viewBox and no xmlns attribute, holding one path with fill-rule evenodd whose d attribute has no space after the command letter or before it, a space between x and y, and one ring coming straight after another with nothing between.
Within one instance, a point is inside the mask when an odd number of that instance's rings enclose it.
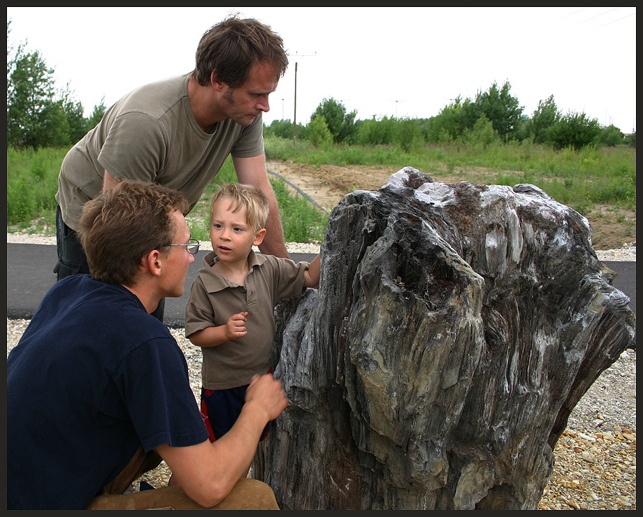
<instances>
[{"instance_id":1,"label":"overcast white sky above the trees","mask_svg":"<svg viewBox=\"0 0 643 517\"><path fill-rule=\"evenodd\" d=\"M194 68L205 32L230 13L284 39L290 65L264 122L308 123L333 97L358 119L431 117L496 81L532 115L551 94L623 133L636 127L636 8L8 7L9 41L40 50L88 115L147 82Z\"/></svg>"}]
</instances>

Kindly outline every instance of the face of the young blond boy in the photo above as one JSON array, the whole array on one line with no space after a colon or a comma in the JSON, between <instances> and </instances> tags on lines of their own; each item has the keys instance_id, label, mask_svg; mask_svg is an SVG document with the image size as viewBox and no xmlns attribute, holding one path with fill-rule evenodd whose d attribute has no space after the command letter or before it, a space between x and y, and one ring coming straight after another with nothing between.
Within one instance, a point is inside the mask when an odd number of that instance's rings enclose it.
<instances>
[{"instance_id":1,"label":"face of the young blond boy","mask_svg":"<svg viewBox=\"0 0 643 517\"><path fill-rule=\"evenodd\" d=\"M252 246L259 246L263 241L265 228L254 231L247 223L247 209L241 207L232 211L231 198L221 198L212 207L210 218L210 240L212 249L220 261L245 261Z\"/></svg>"}]
</instances>

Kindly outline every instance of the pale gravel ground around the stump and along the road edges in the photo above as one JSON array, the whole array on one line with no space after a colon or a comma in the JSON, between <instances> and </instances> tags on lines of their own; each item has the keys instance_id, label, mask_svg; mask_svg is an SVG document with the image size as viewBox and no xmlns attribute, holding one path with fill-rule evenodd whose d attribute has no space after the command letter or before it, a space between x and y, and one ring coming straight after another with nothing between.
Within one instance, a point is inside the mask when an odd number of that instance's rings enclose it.
<instances>
[{"instance_id":1,"label":"pale gravel ground around the stump and along the road edges","mask_svg":"<svg viewBox=\"0 0 643 517\"><path fill-rule=\"evenodd\" d=\"M7 234L7 242L55 244L55 238ZM287 247L291 253L319 251L319 245ZM597 256L602 261L636 261L636 245L597 252ZM7 354L28 324L28 320L7 319ZM185 339L182 329L170 330L185 354L190 384L198 400L201 349ZM635 350L624 351L581 398L554 448L554 456L554 473L539 509L636 509ZM161 463L139 481L165 486L169 474L165 463ZM133 490L138 490L138 482Z\"/></svg>"}]
</instances>

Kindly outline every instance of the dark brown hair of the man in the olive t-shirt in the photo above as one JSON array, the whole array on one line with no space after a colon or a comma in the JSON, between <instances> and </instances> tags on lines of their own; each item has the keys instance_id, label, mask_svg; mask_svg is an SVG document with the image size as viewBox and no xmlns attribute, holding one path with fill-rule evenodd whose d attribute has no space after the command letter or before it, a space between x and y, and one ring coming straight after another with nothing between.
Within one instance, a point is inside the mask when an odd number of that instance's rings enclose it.
<instances>
[{"instance_id":1,"label":"dark brown hair of the man in the olive t-shirt","mask_svg":"<svg viewBox=\"0 0 643 517\"><path fill-rule=\"evenodd\" d=\"M199 85L207 86L216 70L218 80L234 89L243 85L258 62L272 65L275 79L282 78L288 57L281 36L252 18L229 17L203 34L196 48L193 77Z\"/></svg>"}]
</instances>

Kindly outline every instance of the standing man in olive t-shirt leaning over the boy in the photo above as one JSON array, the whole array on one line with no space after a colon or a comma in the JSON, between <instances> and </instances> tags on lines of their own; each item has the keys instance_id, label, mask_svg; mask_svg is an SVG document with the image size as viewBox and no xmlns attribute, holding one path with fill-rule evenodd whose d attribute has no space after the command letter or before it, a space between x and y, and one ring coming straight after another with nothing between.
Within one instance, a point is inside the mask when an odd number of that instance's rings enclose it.
<instances>
[{"instance_id":1,"label":"standing man in olive t-shirt leaning over the boy","mask_svg":"<svg viewBox=\"0 0 643 517\"><path fill-rule=\"evenodd\" d=\"M205 32L192 73L145 85L117 101L62 163L58 279L89 272L75 235L89 199L129 178L181 191L192 210L229 155L238 182L257 185L268 196L272 238L261 252L287 257L261 117L287 65L280 36L257 20L231 17Z\"/></svg>"}]
</instances>

